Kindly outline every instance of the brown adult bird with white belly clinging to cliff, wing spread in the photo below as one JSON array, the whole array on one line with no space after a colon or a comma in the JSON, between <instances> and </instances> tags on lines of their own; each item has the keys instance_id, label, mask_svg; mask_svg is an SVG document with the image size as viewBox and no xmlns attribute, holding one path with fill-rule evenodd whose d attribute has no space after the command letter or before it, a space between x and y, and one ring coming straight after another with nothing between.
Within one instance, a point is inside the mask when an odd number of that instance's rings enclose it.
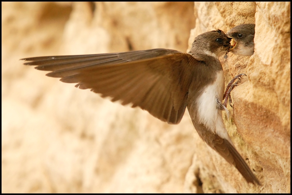
<instances>
[{"instance_id":1,"label":"brown adult bird with white belly clinging to cliff, wing spread","mask_svg":"<svg viewBox=\"0 0 292 195\"><path fill-rule=\"evenodd\" d=\"M231 49L221 30L200 34L188 54L149 49L110 54L25 58L25 65L77 83L102 97L131 103L161 121L178 124L188 108L199 136L233 164L247 182L259 181L235 149L222 119L224 74L219 56ZM225 108L226 109L226 108Z\"/></svg>"}]
</instances>

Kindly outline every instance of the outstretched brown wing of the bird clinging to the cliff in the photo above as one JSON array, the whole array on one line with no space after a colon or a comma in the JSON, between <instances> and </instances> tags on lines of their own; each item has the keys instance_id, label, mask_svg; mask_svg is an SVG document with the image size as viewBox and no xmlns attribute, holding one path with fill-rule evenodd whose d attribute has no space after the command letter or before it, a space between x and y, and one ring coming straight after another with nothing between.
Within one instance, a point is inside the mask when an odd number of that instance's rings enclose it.
<instances>
[{"instance_id":1,"label":"outstretched brown wing of the bird clinging to the cliff","mask_svg":"<svg viewBox=\"0 0 292 195\"><path fill-rule=\"evenodd\" d=\"M170 49L23 60L31 61L25 65L37 65L35 69L51 71L47 76L121 100L122 105L132 103L171 124L179 123L186 110L198 63L191 55Z\"/></svg>"}]
</instances>

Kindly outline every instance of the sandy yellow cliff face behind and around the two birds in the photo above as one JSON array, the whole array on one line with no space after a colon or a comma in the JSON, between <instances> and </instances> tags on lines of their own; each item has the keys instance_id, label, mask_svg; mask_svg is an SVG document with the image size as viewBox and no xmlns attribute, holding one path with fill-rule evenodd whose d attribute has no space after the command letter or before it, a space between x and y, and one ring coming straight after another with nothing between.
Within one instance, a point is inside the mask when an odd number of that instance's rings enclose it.
<instances>
[{"instance_id":1,"label":"sandy yellow cliff face behind and around the two birds","mask_svg":"<svg viewBox=\"0 0 292 195\"><path fill-rule=\"evenodd\" d=\"M168 48L255 23L255 53L220 58L225 126L262 186L198 137L20 58ZM2 3L2 192L290 192L290 3Z\"/></svg>"}]
</instances>

